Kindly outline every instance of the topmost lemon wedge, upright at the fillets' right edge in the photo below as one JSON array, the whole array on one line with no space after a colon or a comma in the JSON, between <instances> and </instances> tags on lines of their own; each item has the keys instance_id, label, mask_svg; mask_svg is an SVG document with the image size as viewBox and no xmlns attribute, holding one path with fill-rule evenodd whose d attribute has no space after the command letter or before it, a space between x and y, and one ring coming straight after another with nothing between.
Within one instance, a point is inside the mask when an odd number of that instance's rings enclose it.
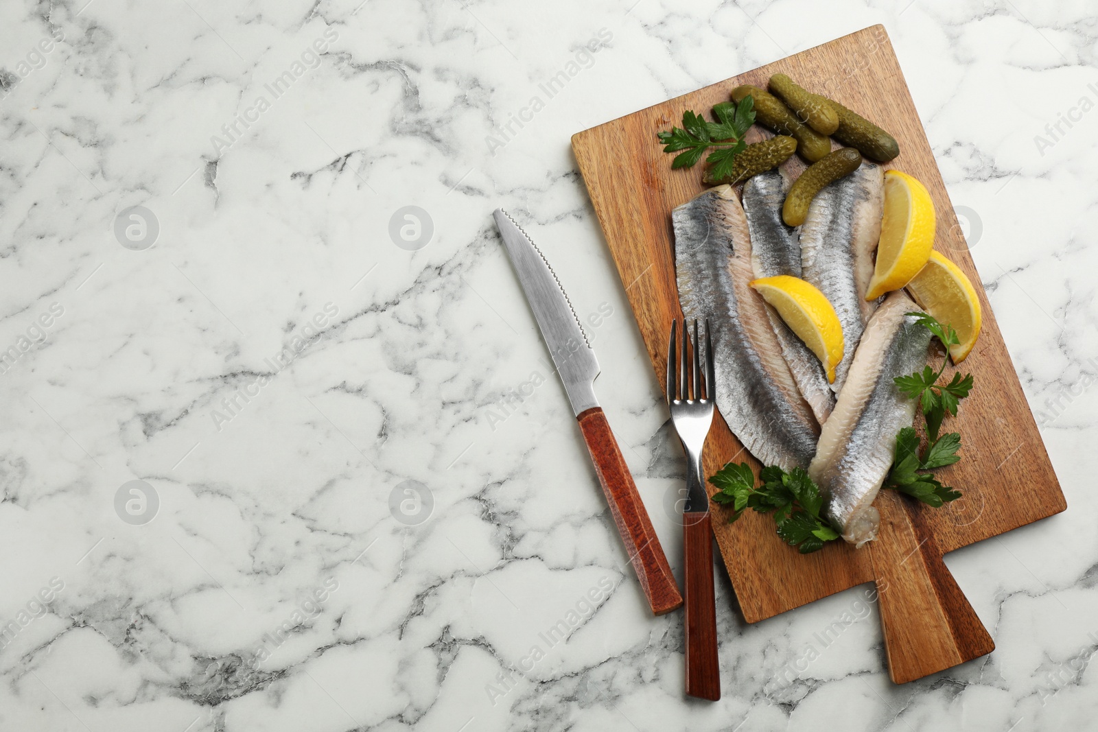
<instances>
[{"instance_id":1,"label":"topmost lemon wedge, upright at the fillets' right edge","mask_svg":"<svg viewBox=\"0 0 1098 732\"><path fill-rule=\"evenodd\" d=\"M934 246L934 203L922 183L905 172L886 170L884 210L877 262L866 300L876 300L910 282Z\"/></svg>"}]
</instances>

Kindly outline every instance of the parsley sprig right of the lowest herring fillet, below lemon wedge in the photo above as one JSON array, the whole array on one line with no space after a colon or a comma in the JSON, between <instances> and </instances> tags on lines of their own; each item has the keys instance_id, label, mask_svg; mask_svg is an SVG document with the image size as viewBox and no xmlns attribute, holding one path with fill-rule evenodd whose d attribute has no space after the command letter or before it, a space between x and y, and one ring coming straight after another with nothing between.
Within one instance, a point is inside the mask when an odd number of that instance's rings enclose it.
<instances>
[{"instance_id":1,"label":"parsley sprig right of the lowest herring fillet, below lemon wedge","mask_svg":"<svg viewBox=\"0 0 1098 732\"><path fill-rule=\"evenodd\" d=\"M949 347L960 342L956 331L949 325L942 325L926 313L908 313L918 317L919 324L938 337L942 345ZM894 488L918 498L925 504L938 507L955 500L961 493L951 488L926 471L952 465L961 460L957 450L961 449L961 435L946 432L939 435L942 420L946 415L956 416L957 405L972 390L972 374L962 376L954 373L948 383L938 383L945 371L945 359L937 372L926 367L907 376L894 379L896 386L906 396L917 399L919 409L927 423L927 449L920 454L919 435L911 427L903 428L896 435L896 458L892 470L885 478L885 487Z\"/></svg>"}]
</instances>

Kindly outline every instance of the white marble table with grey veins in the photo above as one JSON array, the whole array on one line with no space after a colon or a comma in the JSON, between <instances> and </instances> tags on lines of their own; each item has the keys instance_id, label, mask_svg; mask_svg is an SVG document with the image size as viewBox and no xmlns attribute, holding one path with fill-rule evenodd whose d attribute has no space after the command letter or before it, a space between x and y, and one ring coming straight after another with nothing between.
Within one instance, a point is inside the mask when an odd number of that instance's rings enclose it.
<instances>
[{"instance_id":1,"label":"white marble table with grey veins","mask_svg":"<svg viewBox=\"0 0 1098 732\"><path fill-rule=\"evenodd\" d=\"M0 729L1093 728L1093 1L359 2L0 10ZM946 558L990 656L897 687L869 586L747 627L721 576L685 701L490 212L590 318L677 571L569 136L878 22L1069 508Z\"/></svg>"}]
</instances>

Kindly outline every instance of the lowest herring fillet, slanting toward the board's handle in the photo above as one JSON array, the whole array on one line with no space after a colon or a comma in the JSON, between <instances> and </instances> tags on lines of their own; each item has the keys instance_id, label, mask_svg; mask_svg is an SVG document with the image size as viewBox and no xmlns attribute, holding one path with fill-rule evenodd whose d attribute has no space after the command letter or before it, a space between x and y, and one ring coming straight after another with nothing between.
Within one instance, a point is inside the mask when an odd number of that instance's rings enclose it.
<instances>
[{"instance_id":1,"label":"lowest herring fillet, slanting toward the board's handle","mask_svg":"<svg viewBox=\"0 0 1098 732\"><path fill-rule=\"evenodd\" d=\"M827 494L828 520L858 547L877 536L881 516L873 499L896 457L896 433L915 417L915 401L893 379L927 363L930 330L906 315L918 311L897 291L873 314L808 468Z\"/></svg>"}]
</instances>

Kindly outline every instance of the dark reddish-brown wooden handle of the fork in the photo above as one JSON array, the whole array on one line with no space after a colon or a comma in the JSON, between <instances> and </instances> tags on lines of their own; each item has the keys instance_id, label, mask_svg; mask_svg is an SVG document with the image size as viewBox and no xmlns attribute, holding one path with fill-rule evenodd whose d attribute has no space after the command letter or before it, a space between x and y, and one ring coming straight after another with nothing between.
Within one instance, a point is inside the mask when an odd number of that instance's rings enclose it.
<instances>
[{"instance_id":1,"label":"dark reddish-brown wooden handle of the fork","mask_svg":"<svg viewBox=\"0 0 1098 732\"><path fill-rule=\"evenodd\" d=\"M686 694L716 701L720 698L717 661L717 601L713 589L713 528L709 514L683 514L683 555L686 560Z\"/></svg>"}]
</instances>

